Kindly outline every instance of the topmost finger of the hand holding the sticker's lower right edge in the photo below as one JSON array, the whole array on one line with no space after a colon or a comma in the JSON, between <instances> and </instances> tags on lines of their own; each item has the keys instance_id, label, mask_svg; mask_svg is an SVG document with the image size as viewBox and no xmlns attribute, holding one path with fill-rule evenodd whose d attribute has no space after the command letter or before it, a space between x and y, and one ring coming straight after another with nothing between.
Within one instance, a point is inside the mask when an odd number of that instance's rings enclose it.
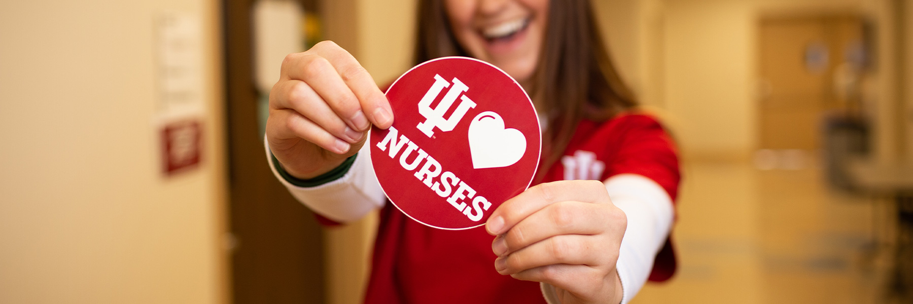
<instances>
[{"instance_id":1,"label":"topmost finger of the hand holding the sticker's lower right edge","mask_svg":"<svg viewBox=\"0 0 913 304\"><path fill-rule=\"evenodd\" d=\"M540 183L498 206L488 217L486 230L497 236L549 204L562 201L596 203L608 198L599 181L560 181Z\"/></svg>"}]
</instances>

